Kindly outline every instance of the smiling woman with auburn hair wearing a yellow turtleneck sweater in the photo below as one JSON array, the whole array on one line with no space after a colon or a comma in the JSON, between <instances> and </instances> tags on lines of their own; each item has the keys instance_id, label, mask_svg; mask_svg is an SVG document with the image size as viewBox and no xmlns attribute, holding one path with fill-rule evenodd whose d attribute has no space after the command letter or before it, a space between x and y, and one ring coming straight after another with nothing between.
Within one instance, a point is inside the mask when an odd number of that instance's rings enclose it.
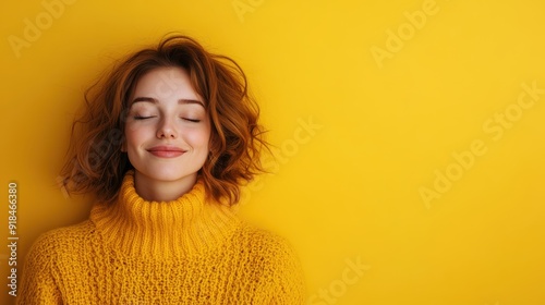
<instances>
[{"instance_id":1,"label":"smiling woman with auburn hair wearing a yellow turtleneck sweater","mask_svg":"<svg viewBox=\"0 0 545 305\"><path fill-rule=\"evenodd\" d=\"M303 304L281 237L238 219L263 171L258 107L231 59L185 36L118 63L86 94L62 170L97 200L43 234L19 304Z\"/></svg>"}]
</instances>

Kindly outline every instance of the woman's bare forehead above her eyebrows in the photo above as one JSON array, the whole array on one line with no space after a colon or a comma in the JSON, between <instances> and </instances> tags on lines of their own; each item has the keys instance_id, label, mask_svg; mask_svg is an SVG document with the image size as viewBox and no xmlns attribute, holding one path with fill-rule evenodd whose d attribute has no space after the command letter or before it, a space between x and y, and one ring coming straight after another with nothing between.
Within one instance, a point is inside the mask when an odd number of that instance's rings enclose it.
<instances>
[{"instance_id":1,"label":"woman's bare forehead above her eyebrows","mask_svg":"<svg viewBox=\"0 0 545 305\"><path fill-rule=\"evenodd\" d=\"M203 101L191 85L187 72L178 66L156 68L145 73L137 82L131 97L149 97L159 101L194 99Z\"/></svg>"}]
</instances>

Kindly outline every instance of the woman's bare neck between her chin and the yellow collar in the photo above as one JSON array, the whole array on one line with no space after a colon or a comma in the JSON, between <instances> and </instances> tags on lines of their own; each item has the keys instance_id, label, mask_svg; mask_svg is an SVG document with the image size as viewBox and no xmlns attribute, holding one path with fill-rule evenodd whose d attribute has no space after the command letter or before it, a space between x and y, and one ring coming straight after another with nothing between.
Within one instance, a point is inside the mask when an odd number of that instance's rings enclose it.
<instances>
[{"instance_id":1,"label":"woman's bare neck between her chin and the yellow collar","mask_svg":"<svg viewBox=\"0 0 545 305\"><path fill-rule=\"evenodd\" d=\"M190 192L196 180L196 173L174 181L160 181L135 171L134 188L144 200L171 202Z\"/></svg>"}]
</instances>

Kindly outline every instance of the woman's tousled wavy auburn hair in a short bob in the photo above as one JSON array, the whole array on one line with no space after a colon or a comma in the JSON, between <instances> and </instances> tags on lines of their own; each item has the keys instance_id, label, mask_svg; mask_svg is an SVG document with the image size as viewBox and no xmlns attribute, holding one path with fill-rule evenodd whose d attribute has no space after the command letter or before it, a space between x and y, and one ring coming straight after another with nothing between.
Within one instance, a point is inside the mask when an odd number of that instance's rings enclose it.
<instances>
[{"instance_id":1,"label":"woman's tousled wavy auburn hair in a short bob","mask_svg":"<svg viewBox=\"0 0 545 305\"><path fill-rule=\"evenodd\" d=\"M83 113L72 124L62 186L69 194L94 194L116 200L123 175L133 169L121 151L129 98L138 80L157 68L179 66L190 75L210 118L209 155L198 176L207 196L234 205L240 187L264 172L264 129L259 108L249 95L246 76L232 59L207 52L194 39L167 35L156 47L117 62L85 93Z\"/></svg>"}]
</instances>

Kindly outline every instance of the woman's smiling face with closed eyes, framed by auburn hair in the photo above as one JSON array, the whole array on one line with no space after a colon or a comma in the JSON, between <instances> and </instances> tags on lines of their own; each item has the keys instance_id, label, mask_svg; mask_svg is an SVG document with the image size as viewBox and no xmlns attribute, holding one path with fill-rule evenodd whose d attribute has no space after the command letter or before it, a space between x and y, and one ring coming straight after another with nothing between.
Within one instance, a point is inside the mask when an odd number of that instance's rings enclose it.
<instances>
[{"instance_id":1,"label":"woman's smiling face with closed eyes, framed by auburn hair","mask_svg":"<svg viewBox=\"0 0 545 305\"><path fill-rule=\"evenodd\" d=\"M194 183L208 155L210 122L185 70L152 70L129 103L123 150L136 179Z\"/></svg>"}]
</instances>

